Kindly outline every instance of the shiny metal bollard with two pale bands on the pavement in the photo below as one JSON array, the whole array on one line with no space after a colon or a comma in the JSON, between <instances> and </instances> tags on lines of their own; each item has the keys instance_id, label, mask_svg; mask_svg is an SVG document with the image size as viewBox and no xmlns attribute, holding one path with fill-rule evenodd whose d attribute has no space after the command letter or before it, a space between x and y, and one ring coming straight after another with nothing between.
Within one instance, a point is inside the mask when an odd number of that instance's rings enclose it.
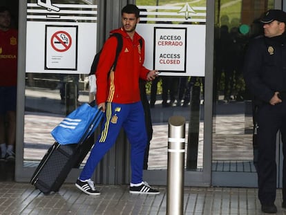
<instances>
[{"instance_id":1,"label":"shiny metal bollard with two pale bands on the pavement","mask_svg":"<svg viewBox=\"0 0 286 215\"><path fill-rule=\"evenodd\" d=\"M166 214L183 214L185 119L169 118Z\"/></svg>"}]
</instances>

